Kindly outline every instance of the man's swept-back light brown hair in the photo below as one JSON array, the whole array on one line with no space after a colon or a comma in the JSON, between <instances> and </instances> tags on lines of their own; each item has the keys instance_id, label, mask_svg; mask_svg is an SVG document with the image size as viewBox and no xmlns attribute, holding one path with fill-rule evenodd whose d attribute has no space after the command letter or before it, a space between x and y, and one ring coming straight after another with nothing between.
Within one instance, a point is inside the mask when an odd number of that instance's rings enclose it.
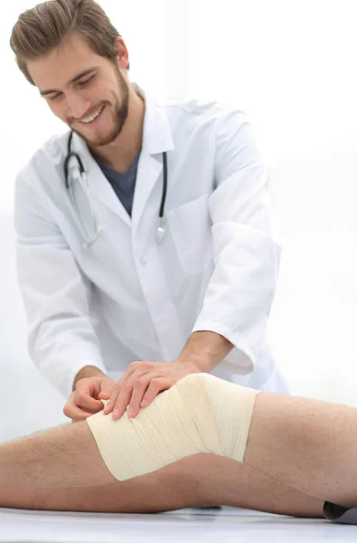
<instances>
[{"instance_id":1,"label":"man's swept-back light brown hair","mask_svg":"<svg viewBox=\"0 0 357 543\"><path fill-rule=\"evenodd\" d=\"M27 81L34 85L26 62L51 52L74 33L100 56L115 60L115 41L120 34L94 0L48 0L19 16L10 46Z\"/></svg>"}]
</instances>

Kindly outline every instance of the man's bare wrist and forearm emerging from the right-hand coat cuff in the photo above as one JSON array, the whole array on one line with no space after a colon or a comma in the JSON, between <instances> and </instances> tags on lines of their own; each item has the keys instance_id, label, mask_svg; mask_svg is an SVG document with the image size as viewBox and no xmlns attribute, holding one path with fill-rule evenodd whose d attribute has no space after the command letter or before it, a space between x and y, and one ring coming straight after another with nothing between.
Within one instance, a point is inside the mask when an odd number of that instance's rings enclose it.
<instances>
[{"instance_id":1,"label":"man's bare wrist and forearm emerging from the right-hand coat cuff","mask_svg":"<svg viewBox=\"0 0 357 543\"><path fill-rule=\"evenodd\" d=\"M191 334L178 360L183 364L193 364L201 372L210 373L233 347L221 334L197 331Z\"/></svg>"}]
</instances>

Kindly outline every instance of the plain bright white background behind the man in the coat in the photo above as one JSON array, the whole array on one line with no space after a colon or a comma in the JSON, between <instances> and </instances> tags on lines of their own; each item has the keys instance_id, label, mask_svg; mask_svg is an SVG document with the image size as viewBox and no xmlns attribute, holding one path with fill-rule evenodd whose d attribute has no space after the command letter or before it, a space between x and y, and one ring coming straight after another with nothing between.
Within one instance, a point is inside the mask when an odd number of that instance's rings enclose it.
<instances>
[{"instance_id":1,"label":"plain bright white background behind the man in the coat","mask_svg":"<svg viewBox=\"0 0 357 543\"><path fill-rule=\"evenodd\" d=\"M269 324L278 364L293 393L357 405L355 0L100 4L127 43L132 81L163 99L221 100L248 113L284 247ZM31 428L40 419L64 421L63 398L26 356L14 278L15 173L66 128L18 71L8 45L17 16L33 5L13 0L0 19L0 409L15 398L13 421L0 424L5 437L22 433L26 417Z\"/></svg>"}]
</instances>

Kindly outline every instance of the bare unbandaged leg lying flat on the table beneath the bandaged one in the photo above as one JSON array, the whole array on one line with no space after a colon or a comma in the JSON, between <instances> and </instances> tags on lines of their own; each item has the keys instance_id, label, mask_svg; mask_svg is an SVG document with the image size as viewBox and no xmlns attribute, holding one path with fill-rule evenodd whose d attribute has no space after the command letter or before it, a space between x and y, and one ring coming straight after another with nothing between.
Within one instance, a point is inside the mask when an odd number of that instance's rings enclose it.
<instances>
[{"instance_id":1,"label":"bare unbandaged leg lying flat on the table beneath the bandaged one","mask_svg":"<svg viewBox=\"0 0 357 543\"><path fill-rule=\"evenodd\" d=\"M77 458L80 462L80 454ZM158 472L106 486L0 488L0 507L17 509L151 513L204 505L310 518L321 518L323 510L322 500L214 454L196 454Z\"/></svg>"}]
</instances>

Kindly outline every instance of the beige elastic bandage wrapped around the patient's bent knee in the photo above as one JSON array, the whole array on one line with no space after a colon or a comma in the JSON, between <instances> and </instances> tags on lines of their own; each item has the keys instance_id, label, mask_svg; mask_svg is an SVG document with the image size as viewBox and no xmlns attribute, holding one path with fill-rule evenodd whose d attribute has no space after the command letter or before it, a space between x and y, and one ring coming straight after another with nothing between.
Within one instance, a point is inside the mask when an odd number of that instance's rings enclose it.
<instances>
[{"instance_id":1,"label":"beige elastic bandage wrapped around the patient's bent knee","mask_svg":"<svg viewBox=\"0 0 357 543\"><path fill-rule=\"evenodd\" d=\"M134 419L100 411L87 423L109 472L126 481L198 452L243 462L257 390L192 374Z\"/></svg>"}]
</instances>

